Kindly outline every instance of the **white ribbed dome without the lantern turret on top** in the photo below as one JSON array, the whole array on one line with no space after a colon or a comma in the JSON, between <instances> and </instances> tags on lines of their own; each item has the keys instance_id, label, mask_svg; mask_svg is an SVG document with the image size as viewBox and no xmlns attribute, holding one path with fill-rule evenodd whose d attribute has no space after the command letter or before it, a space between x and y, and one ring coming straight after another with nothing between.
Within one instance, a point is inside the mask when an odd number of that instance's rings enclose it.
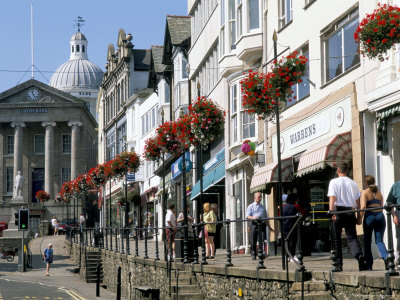
<instances>
[{"instance_id":1,"label":"white ribbed dome without the lantern turret on top","mask_svg":"<svg viewBox=\"0 0 400 300\"><path fill-rule=\"evenodd\" d=\"M99 89L103 71L86 59L72 59L57 68L50 85L59 90L73 88Z\"/></svg>"}]
</instances>

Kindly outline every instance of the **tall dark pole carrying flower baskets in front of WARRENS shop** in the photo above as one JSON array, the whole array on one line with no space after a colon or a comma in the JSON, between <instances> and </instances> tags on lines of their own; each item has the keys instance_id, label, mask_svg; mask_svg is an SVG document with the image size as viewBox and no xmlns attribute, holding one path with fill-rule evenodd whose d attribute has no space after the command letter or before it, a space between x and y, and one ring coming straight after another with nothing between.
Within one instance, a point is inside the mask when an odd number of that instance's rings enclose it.
<instances>
[{"instance_id":1,"label":"tall dark pole carrying flower baskets in front of WARRENS shop","mask_svg":"<svg viewBox=\"0 0 400 300\"><path fill-rule=\"evenodd\" d=\"M278 57L278 50L277 50L277 41L278 41L278 36L276 34L276 31L274 31L274 34L272 36L272 40L274 41L274 60L277 60ZM276 151L277 151L277 157L278 157L278 191L277 191L277 197L278 197L278 203L279 203L279 209L281 212L281 216L283 217L283 209L282 209L282 167L281 167L281 130L280 130L280 124L279 124L279 101L278 99L275 101L275 117L276 117ZM280 229L281 229L281 251L282 251L282 269L286 269L286 253L285 253L285 247L284 247L284 236L283 236L283 219L280 220Z\"/></svg>"}]
</instances>

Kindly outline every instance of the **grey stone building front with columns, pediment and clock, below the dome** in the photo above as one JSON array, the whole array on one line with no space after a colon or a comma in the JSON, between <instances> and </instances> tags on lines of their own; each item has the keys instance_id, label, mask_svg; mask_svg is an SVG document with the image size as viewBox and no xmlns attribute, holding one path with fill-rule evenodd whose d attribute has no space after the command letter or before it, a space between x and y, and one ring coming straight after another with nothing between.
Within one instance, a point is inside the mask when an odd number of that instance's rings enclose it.
<instances>
[{"instance_id":1,"label":"grey stone building front with columns, pediment and clock, below the dome","mask_svg":"<svg viewBox=\"0 0 400 300\"><path fill-rule=\"evenodd\" d=\"M0 195L13 201L15 176L24 176L23 200L51 199L65 181L96 164L97 123L83 100L34 79L0 94ZM7 214L2 210L2 214ZM64 216L65 217L65 216Z\"/></svg>"}]
</instances>

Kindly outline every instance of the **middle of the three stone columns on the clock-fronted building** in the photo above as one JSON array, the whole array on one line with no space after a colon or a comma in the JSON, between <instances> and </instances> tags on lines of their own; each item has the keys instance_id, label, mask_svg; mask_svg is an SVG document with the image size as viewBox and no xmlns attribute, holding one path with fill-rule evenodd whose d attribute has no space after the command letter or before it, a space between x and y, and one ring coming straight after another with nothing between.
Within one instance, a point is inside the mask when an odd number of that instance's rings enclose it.
<instances>
[{"instance_id":1,"label":"middle of the three stone columns on the clock-fronted building","mask_svg":"<svg viewBox=\"0 0 400 300\"><path fill-rule=\"evenodd\" d=\"M42 122L42 126L46 129L46 137L44 143L44 190L54 195L54 126L55 122Z\"/></svg>"}]
</instances>

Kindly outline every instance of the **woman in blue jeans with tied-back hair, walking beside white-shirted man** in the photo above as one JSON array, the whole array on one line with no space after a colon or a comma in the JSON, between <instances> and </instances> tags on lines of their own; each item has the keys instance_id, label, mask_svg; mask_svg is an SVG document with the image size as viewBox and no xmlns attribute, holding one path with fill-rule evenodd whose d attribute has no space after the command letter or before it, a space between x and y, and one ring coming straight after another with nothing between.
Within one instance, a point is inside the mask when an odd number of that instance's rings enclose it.
<instances>
[{"instance_id":1,"label":"woman in blue jeans with tied-back hair, walking beside white-shirted man","mask_svg":"<svg viewBox=\"0 0 400 300\"><path fill-rule=\"evenodd\" d=\"M383 196L378 190L378 187L375 185L375 178L371 175L367 175L364 177L363 184L364 190L362 191L360 198L361 209L383 206ZM368 270L372 271L373 264L371 252L372 232L375 234L375 244L378 247L379 253L384 260L386 267L386 258L388 256L388 252L385 244L383 243L383 235L385 234L386 223L382 209L367 211L365 214L364 212L361 212L359 215L359 224L361 224L363 217L364 258L367 262Z\"/></svg>"}]
</instances>

